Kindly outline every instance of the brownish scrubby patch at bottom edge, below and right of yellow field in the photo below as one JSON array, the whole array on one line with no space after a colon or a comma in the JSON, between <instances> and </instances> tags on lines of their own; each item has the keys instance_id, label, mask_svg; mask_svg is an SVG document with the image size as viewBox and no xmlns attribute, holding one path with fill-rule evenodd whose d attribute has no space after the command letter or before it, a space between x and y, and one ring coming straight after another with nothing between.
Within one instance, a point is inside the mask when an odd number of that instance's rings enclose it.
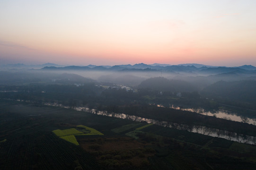
<instances>
[{"instance_id":1,"label":"brownish scrubby patch at bottom edge, below and right of yellow field","mask_svg":"<svg viewBox=\"0 0 256 170\"><path fill-rule=\"evenodd\" d=\"M105 169L138 169L150 163L148 157L155 150L131 137L87 138L79 140L80 146L93 154Z\"/></svg>"}]
</instances>

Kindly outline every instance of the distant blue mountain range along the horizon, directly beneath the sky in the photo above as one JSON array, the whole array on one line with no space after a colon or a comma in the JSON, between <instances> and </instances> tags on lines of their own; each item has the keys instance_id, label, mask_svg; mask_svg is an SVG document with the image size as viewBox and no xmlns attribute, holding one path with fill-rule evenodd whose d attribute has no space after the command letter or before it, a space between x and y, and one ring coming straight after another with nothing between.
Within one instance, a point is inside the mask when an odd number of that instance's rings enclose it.
<instances>
[{"instance_id":1,"label":"distant blue mountain range along the horizon, directly beneath the sky","mask_svg":"<svg viewBox=\"0 0 256 170\"><path fill-rule=\"evenodd\" d=\"M115 65L115 66L62 66L53 63L45 63L42 65L25 65L25 64L9 64L1 65L0 68L9 69L41 69L41 70L90 70L90 71L161 71L161 72L175 72L175 73L198 73L198 74L223 74L223 73L255 73L256 67L252 65L243 65L239 67L217 67L207 66L203 64L158 64L154 63L151 65L138 63L138 64L127 64L127 65Z\"/></svg>"}]
</instances>

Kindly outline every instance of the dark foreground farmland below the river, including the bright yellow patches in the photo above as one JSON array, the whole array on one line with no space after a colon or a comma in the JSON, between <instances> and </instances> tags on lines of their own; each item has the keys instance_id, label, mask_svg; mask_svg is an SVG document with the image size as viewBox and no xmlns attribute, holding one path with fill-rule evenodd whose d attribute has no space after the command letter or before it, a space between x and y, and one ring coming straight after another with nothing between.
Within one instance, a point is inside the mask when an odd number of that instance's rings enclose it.
<instances>
[{"instance_id":1,"label":"dark foreground farmland below the river, including the bright yellow patches","mask_svg":"<svg viewBox=\"0 0 256 170\"><path fill-rule=\"evenodd\" d=\"M0 102L0 141L1 170L256 169L254 145L21 102Z\"/></svg>"}]
</instances>

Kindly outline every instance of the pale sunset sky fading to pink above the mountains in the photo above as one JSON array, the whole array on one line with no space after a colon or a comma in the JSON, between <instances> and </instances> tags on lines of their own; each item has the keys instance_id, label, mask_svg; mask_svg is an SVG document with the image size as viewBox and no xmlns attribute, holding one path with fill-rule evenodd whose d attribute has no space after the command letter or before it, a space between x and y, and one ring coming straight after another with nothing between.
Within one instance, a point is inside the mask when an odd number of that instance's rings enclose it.
<instances>
[{"instance_id":1,"label":"pale sunset sky fading to pink above the mountains","mask_svg":"<svg viewBox=\"0 0 256 170\"><path fill-rule=\"evenodd\" d=\"M256 66L256 0L0 0L0 64Z\"/></svg>"}]
</instances>

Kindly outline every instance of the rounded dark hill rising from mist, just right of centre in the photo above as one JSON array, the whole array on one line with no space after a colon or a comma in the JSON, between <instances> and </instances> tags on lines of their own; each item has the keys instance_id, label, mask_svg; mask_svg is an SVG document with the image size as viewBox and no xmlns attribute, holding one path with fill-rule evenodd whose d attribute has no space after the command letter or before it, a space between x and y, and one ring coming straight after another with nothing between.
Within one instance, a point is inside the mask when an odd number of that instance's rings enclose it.
<instances>
[{"instance_id":1,"label":"rounded dark hill rising from mist, just right of centre","mask_svg":"<svg viewBox=\"0 0 256 170\"><path fill-rule=\"evenodd\" d=\"M198 90L195 86L182 80L168 80L164 77L153 77L141 82L138 88L149 88L159 91L192 92Z\"/></svg>"}]
</instances>

